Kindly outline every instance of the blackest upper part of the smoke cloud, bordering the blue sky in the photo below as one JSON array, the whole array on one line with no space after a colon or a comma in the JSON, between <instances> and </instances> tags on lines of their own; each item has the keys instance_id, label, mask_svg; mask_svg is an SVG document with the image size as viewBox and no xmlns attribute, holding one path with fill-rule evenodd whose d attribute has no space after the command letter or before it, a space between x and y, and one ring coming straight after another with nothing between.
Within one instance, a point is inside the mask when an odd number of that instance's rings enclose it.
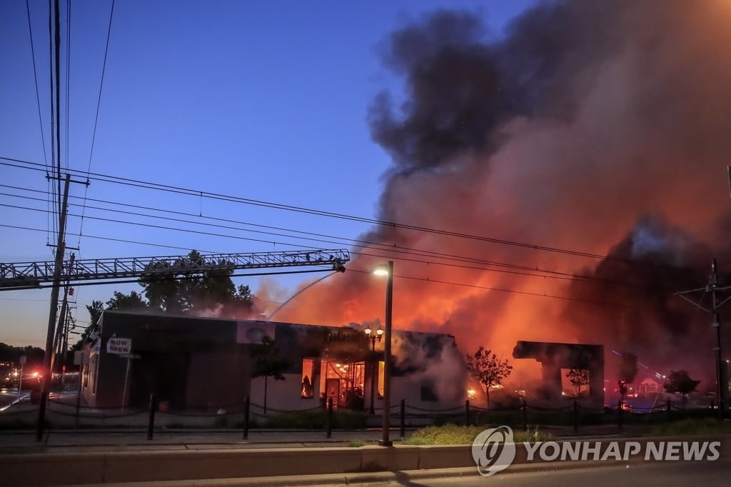
<instances>
[{"instance_id":1,"label":"blackest upper part of the smoke cloud, bordering the blue sky","mask_svg":"<svg viewBox=\"0 0 731 487\"><path fill-rule=\"evenodd\" d=\"M616 15L606 1L545 4L499 42L469 12L442 10L395 31L382 50L387 67L406 78L408 98L395 110L389 94L377 97L374 140L408 174L490 152L499 146L496 129L515 116L570 118L568 88L591 75L593 59L616 50Z\"/></svg>"}]
</instances>

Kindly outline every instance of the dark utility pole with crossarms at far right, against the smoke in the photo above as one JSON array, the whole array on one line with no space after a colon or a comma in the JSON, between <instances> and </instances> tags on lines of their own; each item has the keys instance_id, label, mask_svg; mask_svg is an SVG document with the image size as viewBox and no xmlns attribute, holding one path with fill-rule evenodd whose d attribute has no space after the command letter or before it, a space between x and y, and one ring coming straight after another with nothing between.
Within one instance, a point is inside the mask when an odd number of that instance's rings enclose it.
<instances>
[{"instance_id":1,"label":"dark utility pole with crossarms at far right, against the smoke","mask_svg":"<svg viewBox=\"0 0 731 487\"><path fill-rule=\"evenodd\" d=\"M711 260L711 274L708 276L708 284L705 287L676 293L676 295L680 296L689 303L692 303L697 308L700 308L703 311L711 313L713 315L713 323L711 324L711 328L715 328L716 330L716 347L713 347L713 352L716 352L716 393L718 395L719 402L719 418L721 419L724 418L725 410L728 407L728 385L726 384L728 374L724 371L724 367L726 367L726 365L724 363L723 355L721 353L721 313L719 312L719 310L721 309L721 306L724 306L724 304L731 300L731 296L725 299L721 299L719 297L719 291L729 289L731 289L731 287L724 286L724 277L718 273L716 259L713 259ZM695 301L692 301L692 299L686 296L686 294L700 291L704 293L711 293L710 309L702 306L700 302L696 303Z\"/></svg>"}]
</instances>

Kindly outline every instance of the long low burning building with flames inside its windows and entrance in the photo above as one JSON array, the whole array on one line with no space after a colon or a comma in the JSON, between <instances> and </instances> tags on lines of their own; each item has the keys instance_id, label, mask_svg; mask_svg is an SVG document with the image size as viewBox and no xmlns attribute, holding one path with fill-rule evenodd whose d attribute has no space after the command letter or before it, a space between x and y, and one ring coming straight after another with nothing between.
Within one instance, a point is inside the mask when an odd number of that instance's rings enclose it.
<instances>
[{"instance_id":1,"label":"long low burning building with flames inside its windows and entrance","mask_svg":"<svg viewBox=\"0 0 731 487\"><path fill-rule=\"evenodd\" d=\"M383 407L383 348L362 327L219 320L107 311L82 393L92 407L145 407L151 393L170 409ZM284 380L256 377L252 347L273 340L267 360ZM455 339L393 331L393 399L425 409L461 404L466 368ZM265 388L267 388L265 394Z\"/></svg>"}]
</instances>

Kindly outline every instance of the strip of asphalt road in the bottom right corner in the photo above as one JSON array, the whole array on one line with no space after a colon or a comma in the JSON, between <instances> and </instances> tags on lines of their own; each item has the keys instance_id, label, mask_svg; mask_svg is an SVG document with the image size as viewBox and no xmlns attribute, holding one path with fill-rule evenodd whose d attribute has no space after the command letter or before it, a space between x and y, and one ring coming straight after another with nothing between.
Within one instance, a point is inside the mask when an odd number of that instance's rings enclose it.
<instances>
[{"instance_id":1,"label":"strip of asphalt road in the bottom right corner","mask_svg":"<svg viewBox=\"0 0 731 487\"><path fill-rule=\"evenodd\" d=\"M731 485L731 458L717 461L675 461L640 463L624 467L596 467L558 471L536 471L497 474L492 477L467 477L455 480L410 480L408 475L389 486L449 486L467 487L617 487L617 486L703 486Z\"/></svg>"}]
</instances>

